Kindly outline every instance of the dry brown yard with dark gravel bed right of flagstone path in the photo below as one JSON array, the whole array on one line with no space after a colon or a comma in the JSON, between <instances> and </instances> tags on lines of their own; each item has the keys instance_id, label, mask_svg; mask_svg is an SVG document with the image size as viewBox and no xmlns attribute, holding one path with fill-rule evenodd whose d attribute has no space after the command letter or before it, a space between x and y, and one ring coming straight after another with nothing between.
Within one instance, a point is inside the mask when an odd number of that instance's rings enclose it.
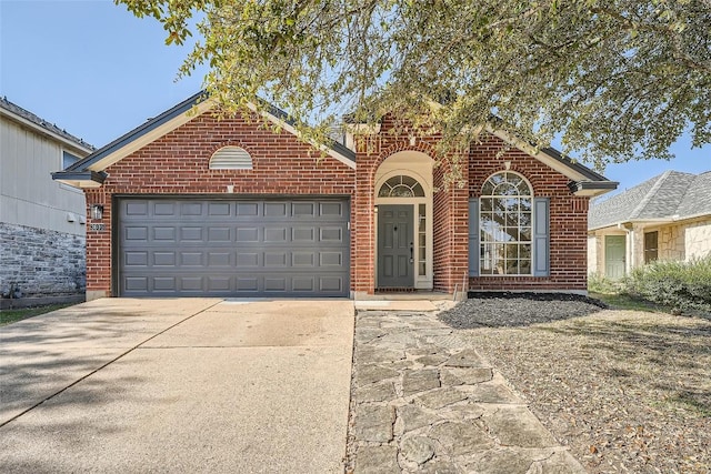
<instances>
[{"instance_id":1,"label":"dry brown yard with dark gravel bed right of flagstone path","mask_svg":"<svg viewBox=\"0 0 711 474\"><path fill-rule=\"evenodd\" d=\"M711 472L711 321L571 295L442 312L590 473Z\"/></svg>"}]
</instances>

